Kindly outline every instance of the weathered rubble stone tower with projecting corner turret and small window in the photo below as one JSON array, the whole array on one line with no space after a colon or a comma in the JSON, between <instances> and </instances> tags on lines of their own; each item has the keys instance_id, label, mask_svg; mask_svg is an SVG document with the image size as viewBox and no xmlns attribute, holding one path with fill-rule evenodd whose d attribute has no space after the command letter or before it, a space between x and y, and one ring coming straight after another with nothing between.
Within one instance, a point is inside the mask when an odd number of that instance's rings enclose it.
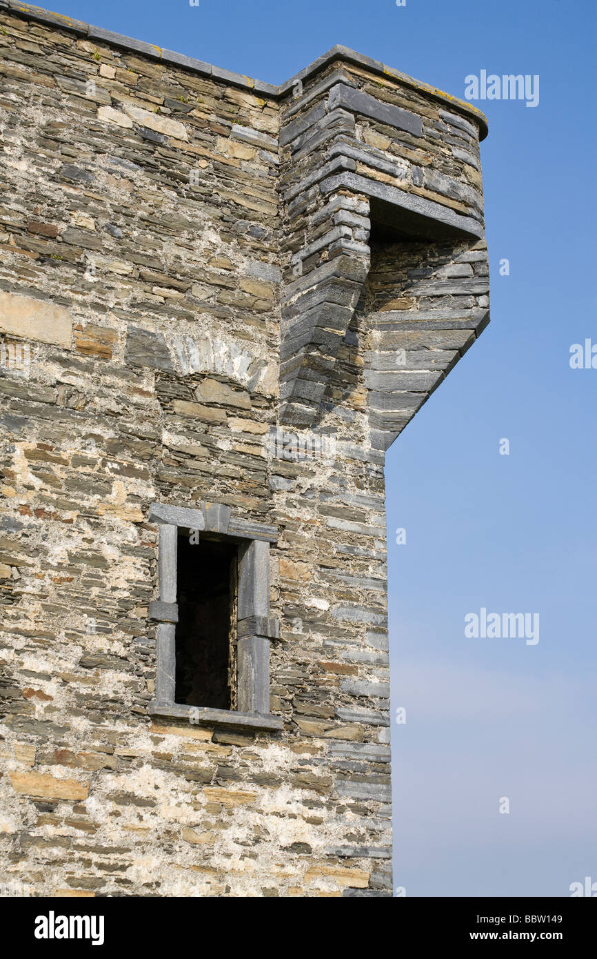
<instances>
[{"instance_id":1,"label":"weathered rubble stone tower with projecting corner turret and small window","mask_svg":"<svg viewBox=\"0 0 597 959\"><path fill-rule=\"evenodd\" d=\"M391 896L384 454L489 321L485 118L0 26L4 879Z\"/></svg>"}]
</instances>

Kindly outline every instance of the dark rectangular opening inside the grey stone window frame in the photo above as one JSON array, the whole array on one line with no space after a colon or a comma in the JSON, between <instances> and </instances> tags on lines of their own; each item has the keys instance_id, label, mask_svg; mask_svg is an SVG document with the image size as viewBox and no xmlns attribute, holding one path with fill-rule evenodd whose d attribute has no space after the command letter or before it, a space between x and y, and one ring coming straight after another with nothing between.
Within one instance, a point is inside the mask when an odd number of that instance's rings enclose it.
<instances>
[{"instance_id":1,"label":"dark rectangular opening inside the grey stone window frame","mask_svg":"<svg viewBox=\"0 0 597 959\"><path fill-rule=\"evenodd\" d=\"M237 547L178 536L176 702L235 708Z\"/></svg>"}]
</instances>

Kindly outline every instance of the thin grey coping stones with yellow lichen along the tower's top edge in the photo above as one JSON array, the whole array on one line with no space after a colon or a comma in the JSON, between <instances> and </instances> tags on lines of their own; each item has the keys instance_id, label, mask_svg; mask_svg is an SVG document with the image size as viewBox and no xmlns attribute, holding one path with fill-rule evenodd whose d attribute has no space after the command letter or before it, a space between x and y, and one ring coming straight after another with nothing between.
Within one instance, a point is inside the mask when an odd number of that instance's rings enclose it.
<instances>
[{"instance_id":1,"label":"thin grey coping stones with yellow lichen along the tower's top edge","mask_svg":"<svg viewBox=\"0 0 597 959\"><path fill-rule=\"evenodd\" d=\"M460 100L458 97L453 97L451 94L438 89L436 86L431 86L429 83L415 80L400 70L395 70L393 67L387 66L380 60L366 57L364 54L359 54L356 50L351 50L349 47L342 46L341 44L331 47L331 49L326 51L325 54L322 54L321 57L313 60L309 66L299 70L290 80L287 80L287 82L282 83L280 86L276 86L273 83L254 80L252 77L246 77L241 73L224 70L221 67L214 66L212 63L206 63L204 60L186 57L184 54L177 54L172 50L163 49L153 43L146 43L144 40L136 40L132 36L116 34L110 30L103 30L102 27L94 27L91 24L83 23L82 20L74 20L72 17L66 16L63 13L54 13L44 10L42 7L34 7L30 4L20 3L19 0L0 0L0 10L11 10L38 23L46 23L53 27L60 27L63 30L70 30L77 35L85 36L89 40L100 40L117 47L124 47L126 50L143 54L146 57L159 60L162 63L173 63L176 66L186 67L202 76L213 77L214 80L225 81L234 86L240 86L243 89L250 90L252 93L264 94L265 96L276 99L285 97L298 82L309 79L318 73L318 71L323 70L329 63L333 62L333 60L342 59L350 63L355 63L356 66L366 67L368 70L371 70L372 73L378 74L379 76L388 77L391 80L398 80L404 83L405 86L425 93L434 100L439 100L444 105L464 112L478 124L480 140L484 140L488 133L487 117L476 106L467 103L465 100Z\"/></svg>"}]
</instances>

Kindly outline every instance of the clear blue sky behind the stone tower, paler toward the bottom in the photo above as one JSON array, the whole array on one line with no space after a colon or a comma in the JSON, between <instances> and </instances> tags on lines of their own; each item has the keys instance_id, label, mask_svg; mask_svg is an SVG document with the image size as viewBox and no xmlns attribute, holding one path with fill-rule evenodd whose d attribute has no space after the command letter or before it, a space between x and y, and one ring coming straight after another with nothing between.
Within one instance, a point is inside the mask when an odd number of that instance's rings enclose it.
<instances>
[{"instance_id":1,"label":"clear blue sky behind the stone tower, paler toward the bottom","mask_svg":"<svg viewBox=\"0 0 597 959\"><path fill-rule=\"evenodd\" d=\"M460 97L483 69L540 76L537 107L478 104L490 124L492 323L387 456L392 704L407 718L392 729L394 881L406 896L567 896L571 882L597 881L597 369L568 362L572 343L597 343L597 7L60 0L58 10L274 83L335 43ZM540 642L466 639L464 618L481 607L539 613Z\"/></svg>"}]
</instances>

